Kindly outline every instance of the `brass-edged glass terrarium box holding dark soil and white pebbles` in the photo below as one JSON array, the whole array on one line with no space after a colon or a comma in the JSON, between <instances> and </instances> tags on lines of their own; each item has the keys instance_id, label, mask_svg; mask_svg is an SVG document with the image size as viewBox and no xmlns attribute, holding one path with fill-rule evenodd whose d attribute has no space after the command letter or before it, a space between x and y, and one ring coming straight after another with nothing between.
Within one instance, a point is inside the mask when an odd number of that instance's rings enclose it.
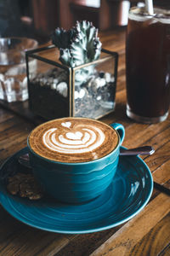
<instances>
[{"instance_id":1,"label":"brass-edged glass terrarium box holding dark soil and white pebbles","mask_svg":"<svg viewBox=\"0 0 170 256\"><path fill-rule=\"evenodd\" d=\"M36 60L34 70L31 60ZM45 119L66 116L99 119L115 108L118 55L102 49L99 60L77 67L59 62L54 46L26 52L29 106Z\"/></svg>"}]
</instances>

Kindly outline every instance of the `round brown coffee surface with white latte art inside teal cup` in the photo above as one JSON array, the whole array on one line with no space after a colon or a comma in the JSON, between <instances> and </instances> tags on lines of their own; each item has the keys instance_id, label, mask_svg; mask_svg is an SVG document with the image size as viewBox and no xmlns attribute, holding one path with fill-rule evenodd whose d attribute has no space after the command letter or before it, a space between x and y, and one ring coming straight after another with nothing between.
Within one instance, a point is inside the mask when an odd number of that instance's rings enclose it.
<instances>
[{"instance_id":1,"label":"round brown coffee surface with white latte art inside teal cup","mask_svg":"<svg viewBox=\"0 0 170 256\"><path fill-rule=\"evenodd\" d=\"M49 160L83 162L109 154L118 137L111 126L97 120L65 118L37 126L29 143L33 151Z\"/></svg>"}]
</instances>

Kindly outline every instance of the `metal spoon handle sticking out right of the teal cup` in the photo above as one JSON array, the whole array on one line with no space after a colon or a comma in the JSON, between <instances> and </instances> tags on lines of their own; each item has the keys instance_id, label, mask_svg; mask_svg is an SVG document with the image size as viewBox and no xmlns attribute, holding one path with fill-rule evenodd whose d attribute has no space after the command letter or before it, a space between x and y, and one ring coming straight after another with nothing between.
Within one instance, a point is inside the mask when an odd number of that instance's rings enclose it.
<instances>
[{"instance_id":1,"label":"metal spoon handle sticking out right of the teal cup","mask_svg":"<svg viewBox=\"0 0 170 256\"><path fill-rule=\"evenodd\" d=\"M131 149L125 149L121 148L120 155L146 155L146 154L154 154L155 150L151 146L144 146L139 148L131 148Z\"/></svg>"}]
</instances>

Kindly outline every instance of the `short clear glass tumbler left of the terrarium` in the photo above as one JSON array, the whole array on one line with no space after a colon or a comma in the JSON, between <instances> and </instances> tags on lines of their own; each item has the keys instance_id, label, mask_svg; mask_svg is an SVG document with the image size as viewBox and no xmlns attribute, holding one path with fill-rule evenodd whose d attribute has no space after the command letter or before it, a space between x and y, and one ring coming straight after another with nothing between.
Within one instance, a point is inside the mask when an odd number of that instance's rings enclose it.
<instances>
[{"instance_id":1,"label":"short clear glass tumbler left of the terrarium","mask_svg":"<svg viewBox=\"0 0 170 256\"><path fill-rule=\"evenodd\" d=\"M0 38L0 99L6 102L28 98L26 50L37 47L31 38ZM32 70L36 61L31 62Z\"/></svg>"}]
</instances>

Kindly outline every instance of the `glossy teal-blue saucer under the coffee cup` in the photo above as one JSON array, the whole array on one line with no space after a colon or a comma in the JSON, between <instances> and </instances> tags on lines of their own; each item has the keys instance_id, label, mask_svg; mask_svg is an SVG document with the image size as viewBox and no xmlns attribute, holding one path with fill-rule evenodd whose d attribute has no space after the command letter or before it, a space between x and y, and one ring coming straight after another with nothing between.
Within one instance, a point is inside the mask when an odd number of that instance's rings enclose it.
<instances>
[{"instance_id":1,"label":"glossy teal-blue saucer under the coffee cup","mask_svg":"<svg viewBox=\"0 0 170 256\"><path fill-rule=\"evenodd\" d=\"M1 177L17 166L17 158L27 153L21 149L1 167ZM110 187L94 201L82 205L62 204L54 199L30 201L10 195L3 179L0 203L14 218L40 230L65 234L90 233L111 229L138 214L152 194L150 169L138 156L121 156Z\"/></svg>"}]
</instances>

